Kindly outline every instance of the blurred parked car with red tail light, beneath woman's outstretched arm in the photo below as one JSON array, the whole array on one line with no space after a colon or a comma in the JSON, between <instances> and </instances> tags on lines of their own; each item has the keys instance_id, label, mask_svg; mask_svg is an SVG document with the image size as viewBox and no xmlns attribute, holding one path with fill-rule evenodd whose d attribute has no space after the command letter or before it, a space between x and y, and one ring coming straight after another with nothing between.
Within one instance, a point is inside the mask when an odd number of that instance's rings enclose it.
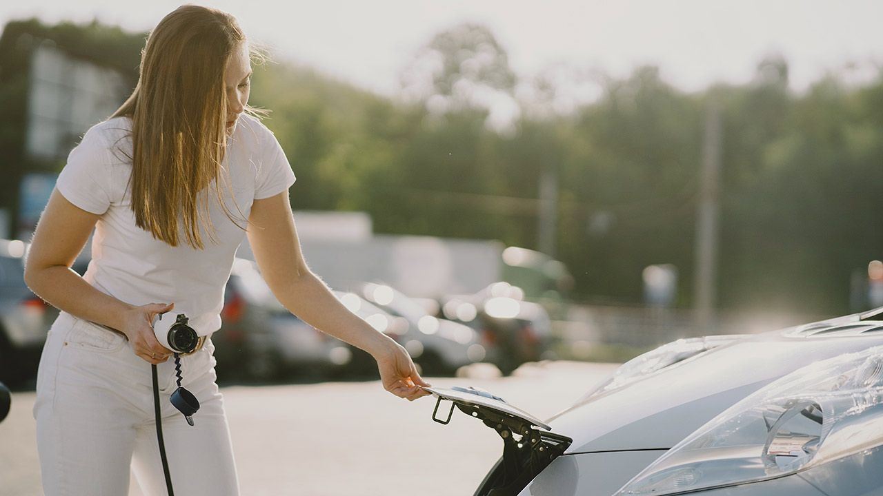
<instances>
[{"instance_id":1,"label":"blurred parked car with red tail light, beneath woman's outstretched arm","mask_svg":"<svg viewBox=\"0 0 883 496\"><path fill-rule=\"evenodd\" d=\"M234 260L221 318L212 342L222 380L316 378L351 361L345 343L286 310L250 260Z\"/></svg>"}]
</instances>

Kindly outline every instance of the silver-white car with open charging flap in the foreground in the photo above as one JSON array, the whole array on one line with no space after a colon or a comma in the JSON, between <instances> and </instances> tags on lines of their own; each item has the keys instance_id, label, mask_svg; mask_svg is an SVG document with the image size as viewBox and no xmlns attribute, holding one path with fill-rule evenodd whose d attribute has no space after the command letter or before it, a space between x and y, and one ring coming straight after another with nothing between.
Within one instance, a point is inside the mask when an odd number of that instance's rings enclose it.
<instances>
[{"instance_id":1,"label":"silver-white car with open charging flap in the foreground","mask_svg":"<svg viewBox=\"0 0 883 496\"><path fill-rule=\"evenodd\" d=\"M546 421L429 388L434 419L457 407L502 438L477 496L883 495L880 319L673 342Z\"/></svg>"}]
</instances>

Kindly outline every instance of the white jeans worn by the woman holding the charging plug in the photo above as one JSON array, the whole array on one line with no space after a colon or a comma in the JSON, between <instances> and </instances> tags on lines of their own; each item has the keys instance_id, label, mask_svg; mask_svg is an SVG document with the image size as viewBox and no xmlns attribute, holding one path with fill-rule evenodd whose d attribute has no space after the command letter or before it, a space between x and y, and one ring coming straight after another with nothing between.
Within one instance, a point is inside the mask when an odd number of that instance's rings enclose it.
<instances>
[{"instance_id":1,"label":"white jeans worn by the woman holding the charging plug","mask_svg":"<svg viewBox=\"0 0 883 496\"><path fill-rule=\"evenodd\" d=\"M195 426L169 402L174 358L157 365L162 435L178 496L238 495L211 340L181 357L186 387L200 402ZM61 312L49 330L37 373L37 448L48 496L120 496L130 465L141 491L166 493L156 440L150 364L119 334Z\"/></svg>"}]
</instances>

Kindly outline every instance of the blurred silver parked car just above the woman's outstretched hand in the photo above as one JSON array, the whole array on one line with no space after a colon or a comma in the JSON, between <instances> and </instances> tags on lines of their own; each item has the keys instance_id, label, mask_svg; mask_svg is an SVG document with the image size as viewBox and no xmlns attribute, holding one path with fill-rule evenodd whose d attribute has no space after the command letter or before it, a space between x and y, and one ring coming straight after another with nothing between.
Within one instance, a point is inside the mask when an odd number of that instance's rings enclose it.
<instances>
[{"instance_id":1,"label":"blurred silver parked car just above the woman's outstretched hand","mask_svg":"<svg viewBox=\"0 0 883 496\"><path fill-rule=\"evenodd\" d=\"M421 374L453 375L458 368L485 358L485 347L472 328L429 315L386 284L367 282L355 287L358 294L338 291L336 295L351 312L404 346ZM360 361L366 359L365 352L355 352ZM369 371L376 372L374 360L361 367L361 372Z\"/></svg>"}]
</instances>

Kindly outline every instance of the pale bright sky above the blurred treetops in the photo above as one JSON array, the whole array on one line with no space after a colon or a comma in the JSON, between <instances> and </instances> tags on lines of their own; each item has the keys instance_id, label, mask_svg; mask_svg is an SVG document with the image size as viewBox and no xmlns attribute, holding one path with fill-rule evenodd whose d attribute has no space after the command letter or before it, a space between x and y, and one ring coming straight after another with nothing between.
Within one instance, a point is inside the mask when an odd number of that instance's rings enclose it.
<instances>
[{"instance_id":1,"label":"pale bright sky above the blurred treetops","mask_svg":"<svg viewBox=\"0 0 883 496\"><path fill-rule=\"evenodd\" d=\"M195 2L197 4L205 4ZM0 23L94 18L149 30L179 2L27 0L0 4ZM789 61L802 90L826 71L857 64L850 78L883 67L883 2L875 0L219 0L246 34L293 60L381 94L433 34L460 22L489 26L519 76L554 64L625 76L657 64L664 79L695 90L751 79L767 54Z\"/></svg>"}]
</instances>

